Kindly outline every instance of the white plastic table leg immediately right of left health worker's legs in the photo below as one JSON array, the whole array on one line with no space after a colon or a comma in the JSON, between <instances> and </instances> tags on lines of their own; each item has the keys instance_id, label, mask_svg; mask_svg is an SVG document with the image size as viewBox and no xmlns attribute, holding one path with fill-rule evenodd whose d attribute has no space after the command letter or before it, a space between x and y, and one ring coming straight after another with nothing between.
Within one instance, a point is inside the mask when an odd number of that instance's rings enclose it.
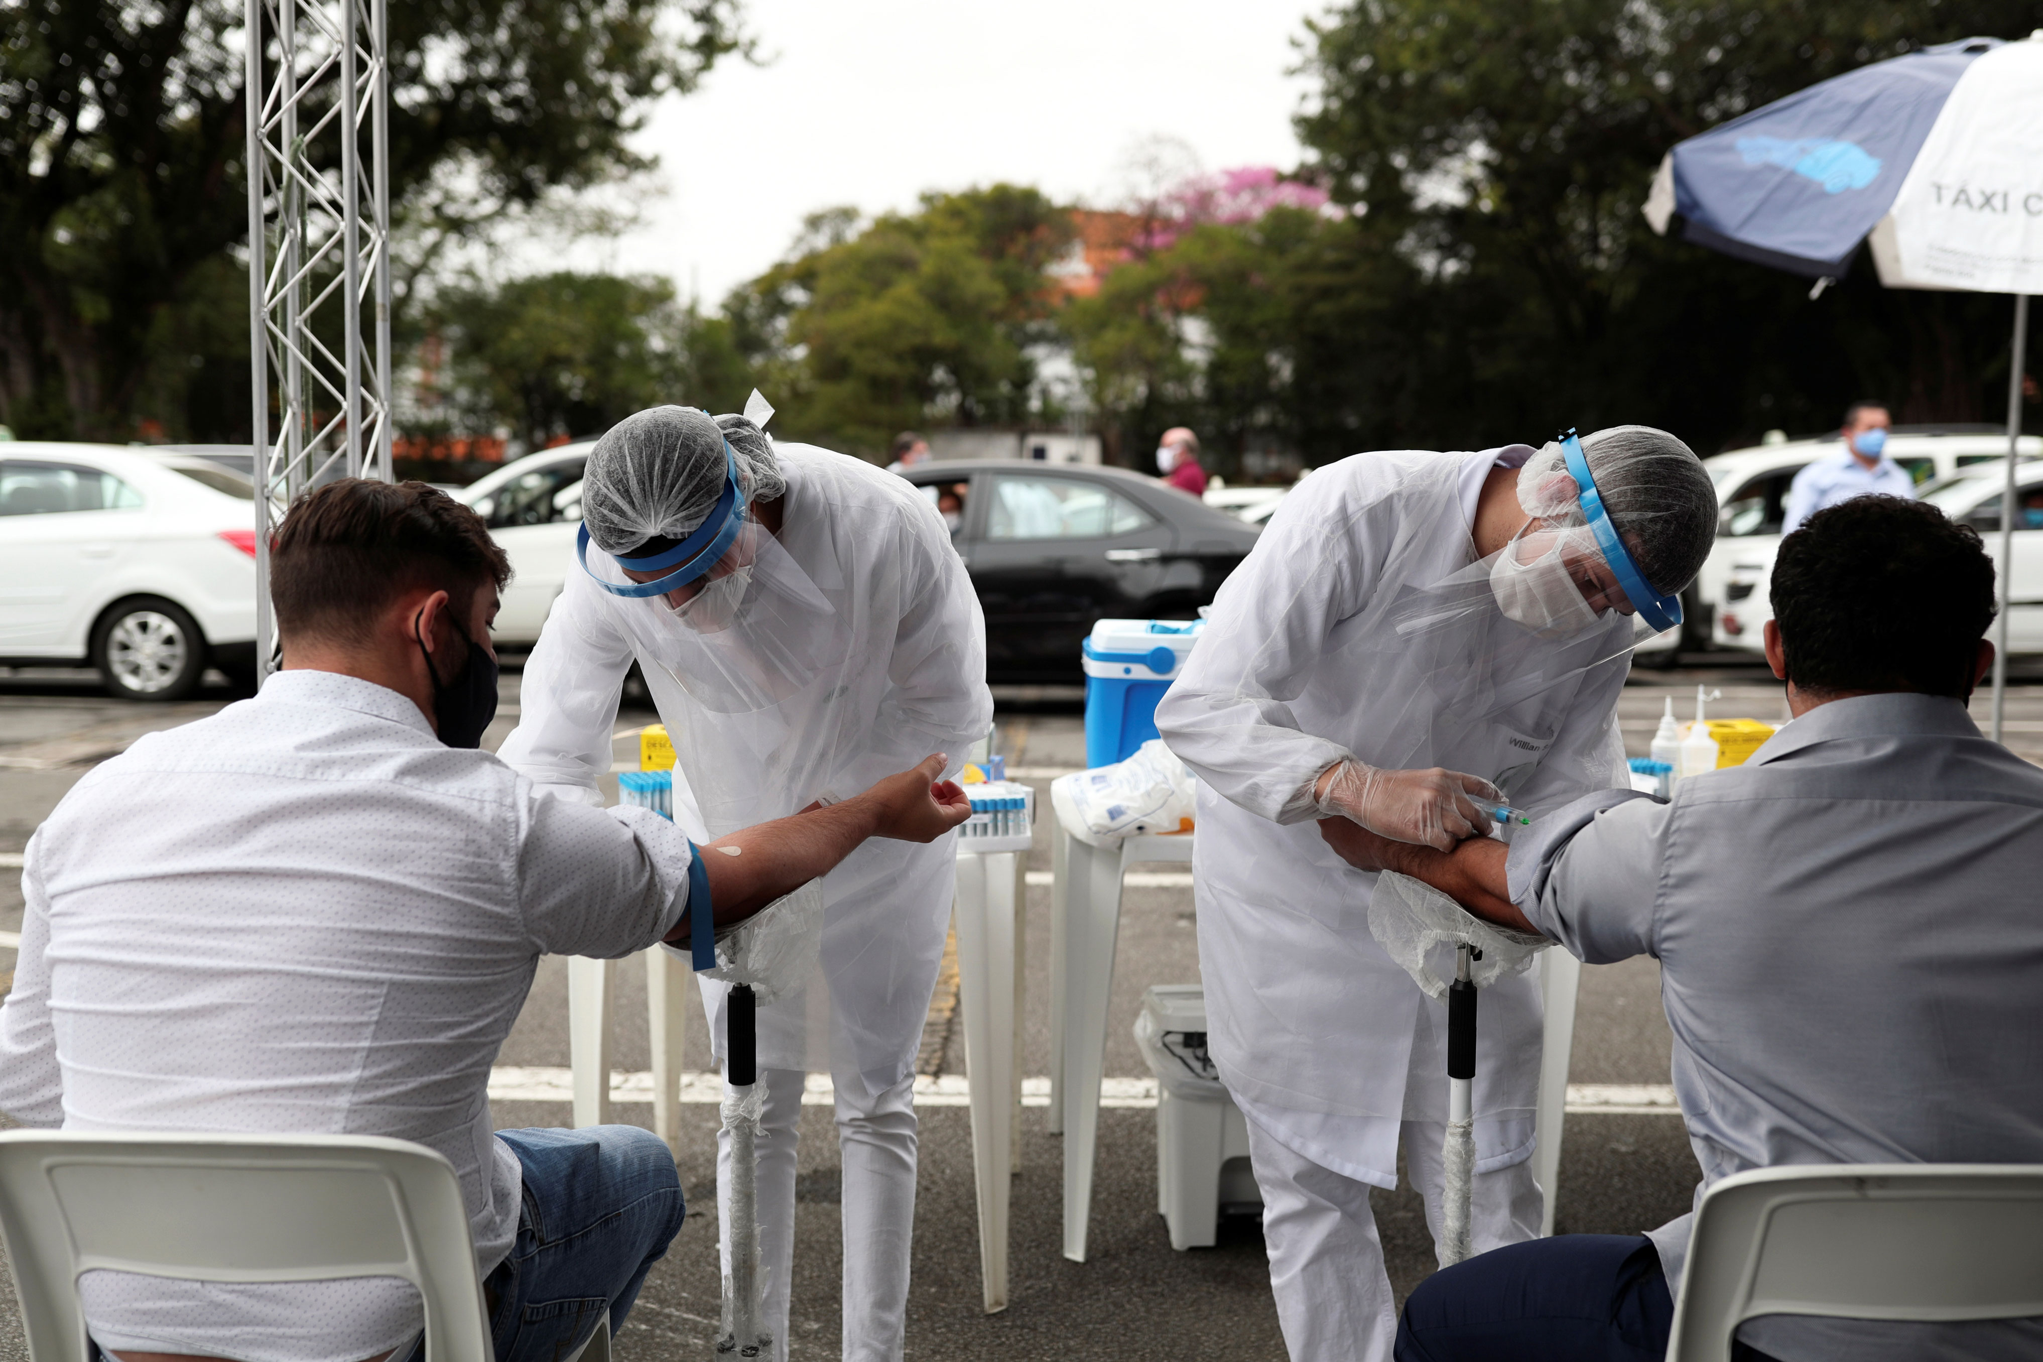
<instances>
[{"instance_id":1,"label":"white plastic table leg immediately right of left health worker's legs","mask_svg":"<svg viewBox=\"0 0 2043 1362\"><path fill-rule=\"evenodd\" d=\"M1022 1170L1024 852L958 852L958 1003L972 1090L979 1280L987 1313L1007 1309L1009 1178Z\"/></svg>"}]
</instances>

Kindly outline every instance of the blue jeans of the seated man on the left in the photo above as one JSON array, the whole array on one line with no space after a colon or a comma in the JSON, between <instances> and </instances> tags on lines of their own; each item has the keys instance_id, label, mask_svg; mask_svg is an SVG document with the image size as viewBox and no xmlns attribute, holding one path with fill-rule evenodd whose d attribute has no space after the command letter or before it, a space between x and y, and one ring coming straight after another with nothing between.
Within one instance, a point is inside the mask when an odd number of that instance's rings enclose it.
<instances>
[{"instance_id":1,"label":"blue jeans of the seated man on the left","mask_svg":"<svg viewBox=\"0 0 2043 1362\"><path fill-rule=\"evenodd\" d=\"M490 1342L496 1362L560 1362L605 1311L613 1337L623 1327L680 1231L680 1176L666 1144L635 1125L496 1137L525 1170L525 1205L511 1254L482 1282Z\"/></svg>"}]
</instances>

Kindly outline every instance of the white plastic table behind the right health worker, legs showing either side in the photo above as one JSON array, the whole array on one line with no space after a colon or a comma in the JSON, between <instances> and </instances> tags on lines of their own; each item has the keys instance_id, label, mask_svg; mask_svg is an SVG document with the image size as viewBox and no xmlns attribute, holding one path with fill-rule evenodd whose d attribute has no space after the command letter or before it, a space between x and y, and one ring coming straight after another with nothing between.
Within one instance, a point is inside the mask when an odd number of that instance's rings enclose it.
<instances>
[{"instance_id":1,"label":"white plastic table behind the right health worker, legs showing either side","mask_svg":"<svg viewBox=\"0 0 2043 1362\"><path fill-rule=\"evenodd\" d=\"M1118 847L1077 837L1062 819L1052 831L1050 890L1050 1131L1064 1135L1064 1258L1085 1262L1093 1217L1093 1160L1099 1152L1099 1084L1105 1074L1107 999L1113 941L1122 925L1122 876L1142 862L1191 864L1195 833L1138 833ZM962 933L960 933L962 950ZM1567 1062L1575 1039L1581 962L1561 947L1540 952L1547 1005L1532 1170L1545 1190L1540 1233L1553 1233ZM977 1095L975 1095L977 1101Z\"/></svg>"}]
</instances>

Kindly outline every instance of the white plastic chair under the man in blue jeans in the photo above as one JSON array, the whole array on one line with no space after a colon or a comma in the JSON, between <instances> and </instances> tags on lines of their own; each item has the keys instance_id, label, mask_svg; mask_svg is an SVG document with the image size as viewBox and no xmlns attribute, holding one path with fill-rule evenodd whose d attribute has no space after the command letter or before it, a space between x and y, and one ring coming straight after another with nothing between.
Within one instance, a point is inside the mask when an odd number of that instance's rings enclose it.
<instances>
[{"instance_id":1,"label":"white plastic chair under the man in blue jeans","mask_svg":"<svg viewBox=\"0 0 2043 1362\"><path fill-rule=\"evenodd\" d=\"M494 1362L454 1166L378 1135L0 1131L0 1237L33 1362L86 1362L78 1276L398 1276L429 1362ZM609 1319L582 1346L609 1362Z\"/></svg>"}]
</instances>

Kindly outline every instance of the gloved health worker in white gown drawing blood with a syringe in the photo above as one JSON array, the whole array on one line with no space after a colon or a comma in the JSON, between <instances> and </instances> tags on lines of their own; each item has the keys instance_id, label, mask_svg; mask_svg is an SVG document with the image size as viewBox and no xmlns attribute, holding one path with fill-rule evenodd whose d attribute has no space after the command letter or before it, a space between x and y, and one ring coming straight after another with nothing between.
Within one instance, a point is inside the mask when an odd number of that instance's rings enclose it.
<instances>
[{"instance_id":1,"label":"gloved health worker in white gown drawing blood with a syringe","mask_svg":"<svg viewBox=\"0 0 2043 1362\"><path fill-rule=\"evenodd\" d=\"M1214 1062L1248 1117L1295 1362L1391 1356L1369 1188L1397 1148L1440 1237L1446 1007L1369 927L1375 874L1320 835L1487 835L1622 784L1630 647L1679 627L1716 533L1702 461L1616 427L1534 451L1357 453L1285 496L1156 709L1199 776L1193 886ZM1453 974L1448 947L1430 966ZM1538 1233L1530 976L1481 994L1475 1252Z\"/></svg>"}]
</instances>

